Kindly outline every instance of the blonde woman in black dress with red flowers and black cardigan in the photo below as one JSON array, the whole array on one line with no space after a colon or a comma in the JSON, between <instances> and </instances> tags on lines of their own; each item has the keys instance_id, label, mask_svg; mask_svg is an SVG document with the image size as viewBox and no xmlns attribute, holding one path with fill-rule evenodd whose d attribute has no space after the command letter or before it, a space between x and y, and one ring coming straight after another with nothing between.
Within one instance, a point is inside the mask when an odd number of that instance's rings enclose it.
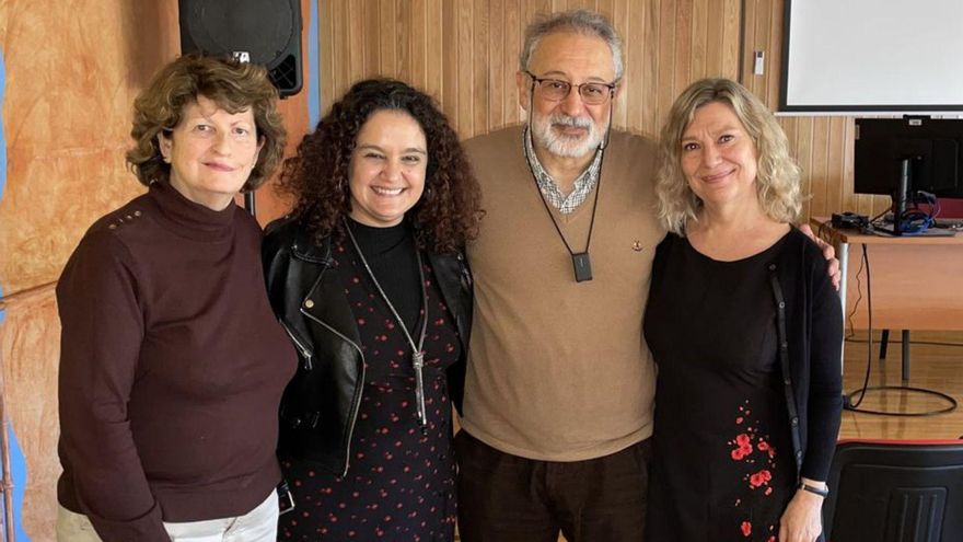
<instances>
[{"instance_id":1,"label":"blonde woman in black dress with red flowers and black cardigan","mask_svg":"<svg viewBox=\"0 0 963 542\"><path fill-rule=\"evenodd\" d=\"M648 540L812 542L843 326L826 260L792 226L799 170L766 106L726 79L682 93L661 145Z\"/></svg>"}]
</instances>

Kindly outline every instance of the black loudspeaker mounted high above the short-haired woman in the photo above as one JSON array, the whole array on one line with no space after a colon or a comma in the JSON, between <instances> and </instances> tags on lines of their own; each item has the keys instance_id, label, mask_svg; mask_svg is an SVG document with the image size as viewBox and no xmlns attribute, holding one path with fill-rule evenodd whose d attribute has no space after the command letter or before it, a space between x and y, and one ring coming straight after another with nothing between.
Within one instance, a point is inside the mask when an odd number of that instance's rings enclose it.
<instances>
[{"instance_id":1,"label":"black loudspeaker mounted high above the short-haired woman","mask_svg":"<svg viewBox=\"0 0 963 542\"><path fill-rule=\"evenodd\" d=\"M265 66L281 97L301 90L301 0L178 0L181 53Z\"/></svg>"}]
</instances>

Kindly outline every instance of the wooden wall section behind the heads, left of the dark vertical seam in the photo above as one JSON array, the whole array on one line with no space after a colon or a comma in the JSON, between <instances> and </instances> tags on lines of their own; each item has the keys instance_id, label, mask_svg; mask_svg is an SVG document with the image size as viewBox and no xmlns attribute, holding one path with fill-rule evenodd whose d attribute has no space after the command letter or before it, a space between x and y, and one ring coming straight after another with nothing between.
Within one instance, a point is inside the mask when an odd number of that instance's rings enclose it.
<instances>
[{"instance_id":1,"label":"wooden wall section behind the heads, left of the dark vertical seam","mask_svg":"<svg viewBox=\"0 0 963 542\"><path fill-rule=\"evenodd\" d=\"M624 89L615 104L615 125L620 128L653 136L675 95L689 82L739 73L740 0L332 0L322 4L324 107L360 77L398 77L432 94L465 138L523 119L514 74L522 33L538 12L595 9L628 36Z\"/></svg>"}]
</instances>

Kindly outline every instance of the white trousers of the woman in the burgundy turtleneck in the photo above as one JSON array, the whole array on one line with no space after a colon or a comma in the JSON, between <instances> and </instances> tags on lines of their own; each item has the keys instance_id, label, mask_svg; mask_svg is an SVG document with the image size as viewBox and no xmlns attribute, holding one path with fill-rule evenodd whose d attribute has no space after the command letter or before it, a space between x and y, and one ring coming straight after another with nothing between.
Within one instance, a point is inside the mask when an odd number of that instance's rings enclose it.
<instances>
[{"instance_id":1,"label":"white trousers of the woman in the burgundy turtleneck","mask_svg":"<svg viewBox=\"0 0 963 542\"><path fill-rule=\"evenodd\" d=\"M172 542L275 542L278 535L278 494L234 518L164 522ZM57 542L101 542L86 516L62 506L57 510Z\"/></svg>"}]
</instances>

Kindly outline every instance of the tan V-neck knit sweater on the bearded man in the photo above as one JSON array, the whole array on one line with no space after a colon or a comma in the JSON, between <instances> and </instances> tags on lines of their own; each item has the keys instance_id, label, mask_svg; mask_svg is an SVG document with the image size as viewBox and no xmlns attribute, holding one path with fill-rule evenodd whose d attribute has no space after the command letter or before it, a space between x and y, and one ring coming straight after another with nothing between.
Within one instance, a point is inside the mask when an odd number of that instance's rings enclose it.
<instances>
[{"instance_id":1,"label":"tan V-neck knit sweater on the bearded man","mask_svg":"<svg viewBox=\"0 0 963 542\"><path fill-rule=\"evenodd\" d=\"M590 247L594 279L571 257L539 201L513 127L466 143L487 215L468 247L475 314L462 425L507 453L578 461L652 434L654 368L642 311L655 245L654 145L613 132ZM585 247L594 193L552 209L575 252Z\"/></svg>"}]
</instances>

